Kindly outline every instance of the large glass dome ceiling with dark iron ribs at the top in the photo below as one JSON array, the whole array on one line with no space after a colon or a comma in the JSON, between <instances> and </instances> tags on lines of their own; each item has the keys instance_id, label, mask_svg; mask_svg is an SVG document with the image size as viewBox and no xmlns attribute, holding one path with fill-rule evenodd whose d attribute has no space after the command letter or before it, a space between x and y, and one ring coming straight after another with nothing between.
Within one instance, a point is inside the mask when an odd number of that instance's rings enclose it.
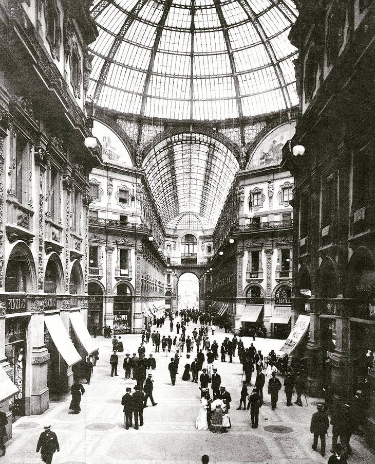
<instances>
[{"instance_id":1,"label":"large glass dome ceiling with dark iron ribs at the top","mask_svg":"<svg viewBox=\"0 0 375 464\"><path fill-rule=\"evenodd\" d=\"M88 96L141 116L208 120L298 103L291 0L95 0Z\"/></svg>"}]
</instances>

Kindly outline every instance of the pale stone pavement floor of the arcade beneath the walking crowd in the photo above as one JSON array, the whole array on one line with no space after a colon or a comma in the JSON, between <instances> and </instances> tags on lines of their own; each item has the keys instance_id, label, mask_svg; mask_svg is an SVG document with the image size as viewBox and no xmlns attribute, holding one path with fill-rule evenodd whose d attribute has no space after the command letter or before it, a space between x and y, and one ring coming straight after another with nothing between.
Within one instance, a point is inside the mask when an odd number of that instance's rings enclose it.
<instances>
[{"instance_id":1,"label":"pale stone pavement floor of the arcade beneath the walking crowd","mask_svg":"<svg viewBox=\"0 0 375 464\"><path fill-rule=\"evenodd\" d=\"M193 328L194 325L190 323L186 335L191 335ZM158 330L161 334L171 333L167 321ZM224 336L226 334L219 330L214 337L210 336L210 340L212 342L215 338L220 345ZM100 359L94 368L90 385L83 381L86 392L81 401L81 414L70 413L70 395L52 398L46 413L23 417L13 424L13 437L7 443L7 454L0 459L0 464L42 462L35 449L46 423L51 424L60 442L61 451L54 454L53 464L199 464L203 454L210 456L210 464L310 464L328 461L331 427L328 431L326 456L322 457L311 449L310 420L316 412L318 399L307 398L308 406L304 401L304 407L287 407L283 388L277 409L271 411L266 379L265 402L260 408L258 429L251 428L248 411L236 411L242 374L238 356L235 356L232 364L216 362L222 385L227 387L232 396L232 429L227 434L195 430L200 400L199 384L181 380L183 366L191 362L192 357L187 360L186 352L183 353L176 385L172 386L167 370L171 356L164 355L161 348L160 353L154 354L157 367L153 371L154 399L158 404L155 407L150 404L144 409L143 427L126 431L123 427L121 398L125 387L133 387L135 381L124 380L122 360L127 351L130 354L137 351L141 336L123 335L121 338L125 351L119 356L119 377L110 377L111 341L98 337ZM243 337L242 340L245 347L252 342L249 337ZM256 349L261 349L267 355L271 348L277 353L283 341L256 338L253 343ZM151 350L154 351L150 341L146 346L147 357ZM174 354L173 348L170 354ZM283 383L283 379L280 380ZM349 459L350 464L375 462L373 452L360 436L352 437L351 446L353 455Z\"/></svg>"}]
</instances>

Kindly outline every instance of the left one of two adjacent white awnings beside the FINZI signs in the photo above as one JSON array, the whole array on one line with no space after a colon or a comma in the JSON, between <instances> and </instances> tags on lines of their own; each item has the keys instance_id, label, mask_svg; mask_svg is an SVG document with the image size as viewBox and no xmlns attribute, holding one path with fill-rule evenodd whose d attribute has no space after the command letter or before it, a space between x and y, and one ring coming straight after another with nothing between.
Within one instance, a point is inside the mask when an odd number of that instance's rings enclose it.
<instances>
[{"instance_id":1,"label":"left one of two adjacent white awnings beside the FINZI signs","mask_svg":"<svg viewBox=\"0 0 375 464\"><path fill-rule=\"evenodd\" d=\"M61 354L62 358L68 366L79 363L82 358L74 345L72 344L69 334L65 329L63 321L59 314L51 314L44 317L47 329L53 343Z\"/></svg>"}]
</instances>

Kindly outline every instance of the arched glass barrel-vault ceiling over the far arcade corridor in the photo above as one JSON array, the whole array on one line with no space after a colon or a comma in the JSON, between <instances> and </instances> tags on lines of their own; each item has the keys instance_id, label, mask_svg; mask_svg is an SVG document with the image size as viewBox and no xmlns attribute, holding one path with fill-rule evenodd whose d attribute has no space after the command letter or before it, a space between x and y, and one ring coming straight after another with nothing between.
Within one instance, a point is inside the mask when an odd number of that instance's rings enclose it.
<instances>
[{"instance_id":1,"label":"arched glass barrel-vault ceiling over the far arcade corridor","mask_svg":"<svg viewBox=\"0 0 375 464\"><path fill-rule=\"evenodd\" d=\"M191 212L213 228L238 163L225 145L209 135L183 133L153 147L143 169L164 225Z\"/></svg>"}]
</instances>

